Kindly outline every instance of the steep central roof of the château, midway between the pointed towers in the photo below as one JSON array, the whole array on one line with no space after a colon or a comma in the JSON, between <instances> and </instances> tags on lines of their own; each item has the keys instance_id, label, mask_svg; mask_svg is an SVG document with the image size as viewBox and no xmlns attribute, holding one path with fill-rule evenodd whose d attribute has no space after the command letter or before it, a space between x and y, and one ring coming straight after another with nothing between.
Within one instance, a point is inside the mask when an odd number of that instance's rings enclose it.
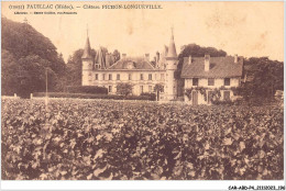
<instances>
[{"instance_id":1,"label":"steep central roof of the ch\u00e2teau, midway between the pointed towers","mask_svg":"<svg viewBox=\"0 0 286 191\"><path fill-rule=\"evenodd\" d=\"M136 69L136 70L153 70L155 69L150 61L142 57L128 57L118 60L114 65L108 69Z\"/></svg>"}]
</instances>

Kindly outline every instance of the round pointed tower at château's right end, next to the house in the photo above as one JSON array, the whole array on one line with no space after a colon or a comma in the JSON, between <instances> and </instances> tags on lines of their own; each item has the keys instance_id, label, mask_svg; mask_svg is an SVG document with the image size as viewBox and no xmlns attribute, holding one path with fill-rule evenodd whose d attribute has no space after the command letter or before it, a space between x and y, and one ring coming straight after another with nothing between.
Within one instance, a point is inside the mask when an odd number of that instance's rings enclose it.
<instances>
[{"instance_id":1,"label":"round pointed tower at ch\u00e2teau's right end, next to the house","mask_svg":"<svg viewBox=\"0 0 286 191\"><path fill-rule=\"evenodd\" d=\"M172 35L166 56L166 99L174 100L177 98L177 82L175 79L175 71L177 70L178 56L174 41L174 33L172 27Z\"/></svg>"}]
</instances>

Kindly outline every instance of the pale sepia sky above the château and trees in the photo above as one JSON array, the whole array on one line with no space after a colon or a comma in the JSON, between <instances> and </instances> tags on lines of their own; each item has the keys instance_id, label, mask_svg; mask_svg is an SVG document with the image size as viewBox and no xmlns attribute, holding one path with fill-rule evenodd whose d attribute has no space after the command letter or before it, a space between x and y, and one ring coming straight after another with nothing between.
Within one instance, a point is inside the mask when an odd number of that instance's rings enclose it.
<instances>
[{"instance_id":1,"label":"pale sepia sky above the ch\u00e2teau and trees","mask_svg":"<svg viewBox=\"0 0 286 191\"><path fill-rule=\"evenodd\" d=\"M162 9L82 9L84 4L156 4ZM9 9L11 5L53 4L47 9ZM56 10L56 4L72 4L77 14L14 14L15 11ZM76 8L80 7L80 8ZM170 27L177 53L183 45L198 44L223 49L228 55L267 56L284 60L283 2L2 2L2 15L28 22L57 47L67 60L84 48L87 29L91 47L119 49L129 56L162 52L168 45Z\"/></svg>"}]
</instances>

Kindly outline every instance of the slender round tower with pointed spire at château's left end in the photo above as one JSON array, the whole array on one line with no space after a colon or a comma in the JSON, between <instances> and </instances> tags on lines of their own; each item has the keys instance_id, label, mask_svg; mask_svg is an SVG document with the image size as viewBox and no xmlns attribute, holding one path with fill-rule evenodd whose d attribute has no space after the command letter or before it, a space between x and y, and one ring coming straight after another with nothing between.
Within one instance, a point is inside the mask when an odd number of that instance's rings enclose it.
<instances>
[{"instance_id":1,"label":"slender round tower with pointed spire at ch\u00e2teau's left end","mask_svg":"<svg viewBox=\"0 0 286 191\"><path fill-rule=\"evenodd\" d=\"M81 78L81 85L82 86L90 86L91 79L92 79L92 56L91 56L91 48L88 37L88 31L87 31L87 41L86 46L84 49L84 54L81 56L81 63L82 63L82 78Z\"/></svg>"}]
</instances>

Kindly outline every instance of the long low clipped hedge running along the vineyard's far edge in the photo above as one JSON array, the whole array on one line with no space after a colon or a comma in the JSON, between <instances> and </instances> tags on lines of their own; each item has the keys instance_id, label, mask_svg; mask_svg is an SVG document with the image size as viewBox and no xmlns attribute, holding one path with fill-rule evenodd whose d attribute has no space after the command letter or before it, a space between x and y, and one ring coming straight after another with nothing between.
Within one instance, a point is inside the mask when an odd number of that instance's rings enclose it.
<instances>
[{"instance_id":1,"label":"long low clipped hedge running along the vineyard's far edge","mask_svg":"<svg viewBox=\"0 0 286 191\"><path fill-rule=\"evenodd\" d=\"M35 92L34 97L45 97L45 92ZM152 100L148 96L121 96L121 94L89 94L89 93L67 93L48 92L50 98L79 98L79 99L113 99L113 100Z\"/></svg>"}]
</instances>

